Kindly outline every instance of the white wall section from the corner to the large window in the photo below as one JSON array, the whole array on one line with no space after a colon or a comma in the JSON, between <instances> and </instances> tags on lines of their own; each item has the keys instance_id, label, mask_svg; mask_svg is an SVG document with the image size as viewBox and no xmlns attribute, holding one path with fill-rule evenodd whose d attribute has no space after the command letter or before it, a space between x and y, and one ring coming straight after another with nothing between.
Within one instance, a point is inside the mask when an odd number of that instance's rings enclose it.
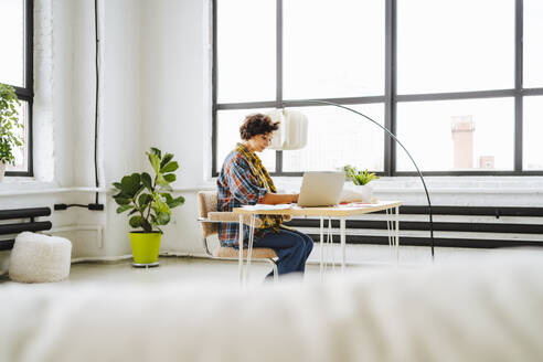
<instances>
[{"instance_id":1,"label":"white wall section from the corner to the large window","mask_svg":"<svg viewBox=\"0 0 543 362\"><path fill-rule=\"evenodd\" d=\"M207 1L143 1L141 9L142 143L174 153L175 187L205 181L211 161L210 8ZM162 249L200 253L195 193L173 210Z\"/></svg>"}]
</instances>

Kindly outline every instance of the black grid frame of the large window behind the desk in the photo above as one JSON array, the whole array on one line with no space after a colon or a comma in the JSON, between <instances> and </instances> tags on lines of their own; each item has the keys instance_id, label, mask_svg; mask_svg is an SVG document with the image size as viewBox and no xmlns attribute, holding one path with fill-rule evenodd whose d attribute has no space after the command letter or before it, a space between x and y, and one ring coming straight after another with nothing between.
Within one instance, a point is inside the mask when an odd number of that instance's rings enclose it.
<instances>
[{"instance_id":1,"label":"black grid frame of the large window behind the desk","mask_svg":"<svg viewBox=\"0 0 543 362\"><path fill-rule=\"evenodd\" d=\"M277 19L276 19L276 99L269 102L251 102L251 103L217 103L217 46L216 46L216 24L217 11L216 4L220 0L212 0L213 23L212 23L212 177L217 175L216 151L217 151L217 111L226 109L257 109L257 108L281 108L284 103L291 106L324 106L304 99L284 99L283 98L283 1L276 0ZM385 107L385 127L396 135L396 108L398 103L406 102L432 102L432 100L453 100L453 99L485 99L510 97L514 99L514 166L509 171L424 171L425 175L543 175L543 170L523 170L522 151L523 151L523 99L526 96L543 95L543 87L524 88L523 87L523 30L524 14L523 0L514 0L514 88L477 91L477 92L453 92L453 93L429 93L429 94L397 94L396 92L396 24L397 24L397 0L385 1L385 91L382 96L366 96L352 98L323 98L319 100L333 102L340 105L359 105L359 104L384 104ZM308 100L308 99L306 99ZM384 137L384 171L376 172L385 177L413 177L417 175L415 171L396 171L396 143L391 137ZM279 177L300 177L302 172L284 172L283 171L283 151L276 151L276 171L272 175Z\"/></svg>"}]
</instances>

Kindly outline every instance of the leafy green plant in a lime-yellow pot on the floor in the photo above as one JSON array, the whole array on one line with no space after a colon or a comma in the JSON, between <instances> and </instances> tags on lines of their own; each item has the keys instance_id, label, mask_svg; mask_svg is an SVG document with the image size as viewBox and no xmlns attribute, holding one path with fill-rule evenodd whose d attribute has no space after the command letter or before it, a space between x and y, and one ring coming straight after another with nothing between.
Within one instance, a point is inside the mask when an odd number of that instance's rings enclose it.
<instances>
[{"instance_id":1,"label":"leafy green plant in a lime-yellow pot on the floor","mask_svg":"<svg viewBox=\"0 0 543 362\"><path fill-rule=\"evenodd\" d=\"M117 213L129 211L129 224L141 231L130 232L134 263L136 267L158 266L158 254L162 230L171 219L171 209L184 203L184 198L174 199L170 183L175 181L173 173L179 164L173 155L164 153L157 148L147 152L155 177L147 172L125 175L120 182L114 182L119 191L114 195L119 205Z\"/></svg>"}]
</instances>

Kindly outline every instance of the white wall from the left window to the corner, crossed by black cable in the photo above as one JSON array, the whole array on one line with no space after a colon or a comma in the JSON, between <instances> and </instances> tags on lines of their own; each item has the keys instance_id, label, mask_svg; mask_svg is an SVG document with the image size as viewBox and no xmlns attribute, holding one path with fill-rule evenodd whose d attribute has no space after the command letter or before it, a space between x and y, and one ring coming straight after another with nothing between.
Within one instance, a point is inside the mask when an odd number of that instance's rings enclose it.
<instances>
[{"instance_id":1,"label":"white wall from the left window to the corner, crossed by black cable","mask_svg":"<svg viewBox=\"0 0 543 362\"><path fill-rule=\"evenodd\" d=\"M100 1L100 187L141 168L140 1ZM0 209L94 202L95 33L93 0L36 0L34 155L35 178L9 178L0 184ZM126 220L100 193L105 212L83 209L53 212L53 228L97 225L64 232L73 256L130 253ZM6 257L0 256L0 273Z\"/></svg>"}]
</instances>

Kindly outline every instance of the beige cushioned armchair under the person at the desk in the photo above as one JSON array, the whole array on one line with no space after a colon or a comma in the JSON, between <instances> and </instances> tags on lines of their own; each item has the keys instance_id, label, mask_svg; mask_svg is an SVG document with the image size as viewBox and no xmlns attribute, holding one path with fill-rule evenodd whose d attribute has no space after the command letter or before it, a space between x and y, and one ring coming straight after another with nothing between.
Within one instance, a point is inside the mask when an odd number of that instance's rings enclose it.
<instances>
[{"instance_id":1,"label":"beige cushioned armchair under the person at the desk","mask_svg":"<svg viewBox=\"0 0 543 362\"><path fill-rule=\"evenodd\" d=\"M211 235L215 235L219 233L217 223L238 223L239 216L234 214L233 212L219 212L216 211L217 206L217 192L216 191L200 191L198 193L198 209L200 216L198 221L202 226L202 241L205 253L214 258L239 258L239 249L234 247L225 247L219 246L213 251L210 251L210 245L207 243L207 237ZM251 216L244 216L244 223L246 225L251 225ZM262 225L262 221L259 219L255 219L255 227ZM237 225L236 225L237 227ZM243 258L247 258L247 248L243 249ZM253 247L251 253L251 259L265 259L272 264L274 268L274 280L278 280L278 272L277 264L275 263L275 258L277 258L277 254L274 249L268 247ZM251 264L247 264L247 268ZM248 270L247 270L248 272ZM242 274L242 264L239 264L239 283L243 280Z\"/></svg>"}]
</instances>

